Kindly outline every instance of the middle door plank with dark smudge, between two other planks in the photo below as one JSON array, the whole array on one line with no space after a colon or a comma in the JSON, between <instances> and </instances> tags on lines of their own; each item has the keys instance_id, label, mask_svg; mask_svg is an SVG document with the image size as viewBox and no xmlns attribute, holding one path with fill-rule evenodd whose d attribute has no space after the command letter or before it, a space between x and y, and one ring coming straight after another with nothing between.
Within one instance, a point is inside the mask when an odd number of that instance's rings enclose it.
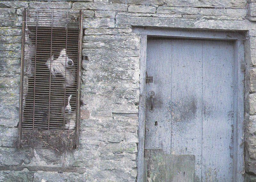
<instances>
[{"instance_id":1,"label":"middle door plank with dark smudge, between two other planks","mask_svg":"<svg viewBox=\"0 0 256 182\"><path fill-rule=\"evenodd\" d=\"M172 154L196 157L201 179L203 41L172 39Z\"/></svg>"}]
</instances>

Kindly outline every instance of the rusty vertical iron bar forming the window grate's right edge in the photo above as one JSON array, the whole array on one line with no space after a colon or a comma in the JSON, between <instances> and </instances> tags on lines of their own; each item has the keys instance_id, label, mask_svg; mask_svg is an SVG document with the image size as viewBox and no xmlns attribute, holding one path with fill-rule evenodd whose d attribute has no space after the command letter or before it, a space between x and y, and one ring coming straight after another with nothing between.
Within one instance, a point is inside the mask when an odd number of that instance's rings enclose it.
<instances>
[{"instance_id":1,"label":"rusty vertical iron bar forming the window grate's right edge","mask_svg":"<svg viewBox=\"0 0 256 182\"><path fill-rule=\"evenodd\" d=\"M76 149L78 149L79 123L80 123L80 84L81 84L81 64L82 64L82 39L83 39L83 10L80 10L78 55L77 55L77 75L76 75Z\"/></svg>"}]
</instances>

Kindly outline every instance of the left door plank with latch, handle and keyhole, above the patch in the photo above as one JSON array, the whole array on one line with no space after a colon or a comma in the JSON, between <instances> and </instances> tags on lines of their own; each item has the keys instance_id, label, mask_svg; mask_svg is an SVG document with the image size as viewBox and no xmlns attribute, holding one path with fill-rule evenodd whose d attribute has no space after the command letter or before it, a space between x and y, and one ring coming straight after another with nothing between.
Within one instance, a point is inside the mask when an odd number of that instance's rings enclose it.
<instances>
[{"instance_id":1,"label":"left door plank with latch, handle and keyhole, above the patch","mask_svg":"<svg viewBox=\"0 0 256 182\"><path fill-rule=\"evenodd\" d=\"M145 148L162 148L171 153L171 42L166 39L149 39L147 47L147 73L153 76L153 83L146 85L146 136ZM154 91L152 98L149 91Z\"/></svg>"}]
</instances>

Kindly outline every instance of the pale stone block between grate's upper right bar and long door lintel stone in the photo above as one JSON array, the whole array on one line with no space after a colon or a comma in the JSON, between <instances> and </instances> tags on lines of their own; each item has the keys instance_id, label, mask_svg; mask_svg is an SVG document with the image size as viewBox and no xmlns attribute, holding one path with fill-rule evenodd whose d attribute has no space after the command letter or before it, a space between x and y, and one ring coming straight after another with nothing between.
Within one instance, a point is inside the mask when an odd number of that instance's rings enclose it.
<instances>
[{"instance_id":1,"label":"pale stone block between grate's upper right bar and long door lintel stone","mask_svg":"<svg viewBox=\"0 0 256 182\"><path fill-rule=\"evenodd\" d=\"M114 28L115 20L111 18L85 18L84 28Z\"/></svg>"}]
</instances>

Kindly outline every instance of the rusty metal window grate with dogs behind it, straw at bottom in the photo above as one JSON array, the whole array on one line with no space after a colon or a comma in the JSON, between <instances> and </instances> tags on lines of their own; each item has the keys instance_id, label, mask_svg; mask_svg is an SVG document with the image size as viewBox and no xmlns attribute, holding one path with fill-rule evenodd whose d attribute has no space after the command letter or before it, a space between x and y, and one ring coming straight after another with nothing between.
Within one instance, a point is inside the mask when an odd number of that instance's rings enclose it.
<instances>
[{"instance_id":1,"label":"rusty metal window grate with dogs behind it, straw at bottom","mask_svg":"<svg viewBox=\"0 0 256 182\"><path fill-rule=\"evenodd\" d=\"M82 20L82 10L24 10L19 147L77 148Z\"/></svg>"}]
</instances>

